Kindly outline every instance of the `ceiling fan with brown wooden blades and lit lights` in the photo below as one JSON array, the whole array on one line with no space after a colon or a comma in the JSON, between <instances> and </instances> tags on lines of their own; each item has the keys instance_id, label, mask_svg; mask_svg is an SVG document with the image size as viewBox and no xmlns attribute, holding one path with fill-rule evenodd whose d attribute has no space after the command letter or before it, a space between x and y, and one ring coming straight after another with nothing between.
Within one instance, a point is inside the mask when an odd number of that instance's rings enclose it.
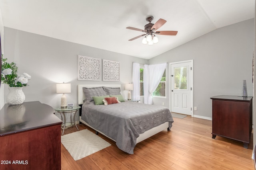
<instances>
[{"instance_id":1,"label":"ceiling fan with brown wooden blades and lit lights","mask_svg":"<svg viewBox=\"0 0 256 170\"><path fill-rule=\"evenodd\" d=\"M134 27L126 27L127 29L133 29L136 31L142 31L144 32L144 34L139 35L137 37L134 37L132 39L129 39L129 41L132 41L134 39L143 37L145 35L145 37L142 39L142 43L143 44L149 44L149 45L153 45L154 43L158 43L158 38L156 37L155 34L159 34L159 35L177 35L178 31L156 31L158 28L160 28L162 25L164 25L164 23L166 23L166 20L160 18L158 21L156 21L156 23L151 23L151 21L154 19L153 16L149 16L146 18L146 21L148 21L149 23L146 24L144 26L144 29L138 29L138 28L134 28Z\"/></svg>"}]
</instances>

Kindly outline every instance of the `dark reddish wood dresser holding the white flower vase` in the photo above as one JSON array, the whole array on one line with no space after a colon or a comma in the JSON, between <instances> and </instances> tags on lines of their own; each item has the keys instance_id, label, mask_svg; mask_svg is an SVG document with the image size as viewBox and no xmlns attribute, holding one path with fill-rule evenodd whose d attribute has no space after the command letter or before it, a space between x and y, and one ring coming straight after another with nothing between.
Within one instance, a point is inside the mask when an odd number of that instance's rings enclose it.
<instances>
[{"instance_id":1,"label":"dark reddish wood dresser holding the white flower vase","mask_svg":"<svg viewBox=\"0 0 256 170\"><path fill-rule=\"evenodd\" d=\"M40 102L0 110L1 170L60 170L62 121Z\"/></svg>"}]
</instances>

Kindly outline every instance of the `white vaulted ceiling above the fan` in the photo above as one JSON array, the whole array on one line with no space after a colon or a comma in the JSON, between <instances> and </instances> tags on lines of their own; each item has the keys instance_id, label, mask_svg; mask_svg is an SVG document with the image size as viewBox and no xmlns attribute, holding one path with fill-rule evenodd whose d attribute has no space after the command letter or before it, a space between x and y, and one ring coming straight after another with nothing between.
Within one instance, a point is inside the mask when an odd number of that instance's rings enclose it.
<instances>
[{"instance_id":1,"label":"white vaulted ceiling above the fan","mask_svg":"<svg viewBox=\"0 0 256 170\"><path fill-rule=\"evenodd\" d=\"M255 0L0 0L5 27L150 59L214 29L254 18ZM143 45L146 17L167 22Z\"/></svg>"}]
</instances>

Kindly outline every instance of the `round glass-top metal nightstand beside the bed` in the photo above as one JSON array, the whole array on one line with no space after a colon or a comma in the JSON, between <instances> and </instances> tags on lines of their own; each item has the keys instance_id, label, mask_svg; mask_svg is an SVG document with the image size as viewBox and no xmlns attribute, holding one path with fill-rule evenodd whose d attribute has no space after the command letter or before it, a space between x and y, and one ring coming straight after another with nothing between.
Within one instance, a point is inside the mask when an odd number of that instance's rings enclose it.
<instances>
[{"instance_id":1,"label":"round glass-top metal nightstand beside the bed","mask_svg":"<svg viewBox=\"0 0 256 170\"><path fill-rule=\"evenodd\" d=\"M63 123L63 131L62 131L62 135L64 134L64 130L66 127L66 113L70 113L70 126L76 126L76 121L75 121L75 117L76 117L76 112L80 109L80 106L73 106L73 107L67 107L66 109L61 109L61 108L56 108L54 110L56 110L58 113L60 113L61 116L61 120L63 120L64 117L64 123ZM74 114L73 116L73 121L72 121L72 114ZM74 124L73 124L74 123ZM68 126L68 127L70 127ZM78 127L76 126L76 129L79 131Z\"/></svg>"}]
</instances>

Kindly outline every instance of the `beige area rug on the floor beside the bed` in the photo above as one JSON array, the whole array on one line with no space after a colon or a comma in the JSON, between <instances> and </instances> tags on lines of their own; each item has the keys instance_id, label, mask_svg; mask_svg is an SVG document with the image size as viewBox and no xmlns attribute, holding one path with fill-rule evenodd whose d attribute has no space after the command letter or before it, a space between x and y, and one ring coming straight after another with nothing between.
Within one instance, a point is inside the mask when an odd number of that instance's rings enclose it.
<instances>
[{"instance_id":1,"label":"beige area rug on the floor beside the bed","mask_svg":"<svg viewBox=\"0 0 256 170\"><path fill-rule=\"evenodd\" d=\"M61 143L68 150L74 160L79 160L111 146L110 143L88 129L61 136Z\"/></svg>"}]
</instances>

